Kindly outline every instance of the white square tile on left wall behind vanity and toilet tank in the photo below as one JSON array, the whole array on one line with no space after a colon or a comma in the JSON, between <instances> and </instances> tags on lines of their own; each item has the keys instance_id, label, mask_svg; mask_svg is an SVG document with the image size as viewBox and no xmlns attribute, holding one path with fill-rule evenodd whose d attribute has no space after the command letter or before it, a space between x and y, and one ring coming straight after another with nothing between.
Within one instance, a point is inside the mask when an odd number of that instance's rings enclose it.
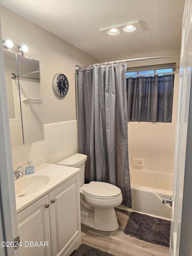
<instances>
[{"instance_id":1,"label":"white square tile on left wall behind vanity and toilet tank","mask_svg":"<svg viewBox=\"0 0 192 256\"><path fill-rule=\"evenodd\" d=\"M77 120L44 125L45 140L12 148L13 169L42 157L55 164L78 152Z\"/></svg>"}]
</instances>

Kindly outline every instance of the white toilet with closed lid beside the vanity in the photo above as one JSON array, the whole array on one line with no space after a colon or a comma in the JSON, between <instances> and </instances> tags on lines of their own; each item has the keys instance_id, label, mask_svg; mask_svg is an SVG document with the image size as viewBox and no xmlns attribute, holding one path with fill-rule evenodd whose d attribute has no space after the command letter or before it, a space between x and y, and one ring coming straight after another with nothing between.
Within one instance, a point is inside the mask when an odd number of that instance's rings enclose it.
<instances>
[{"instance_id":1,"label":"white toilet with closed lid beside the vanity","mask_svg":"<svg viewBox=\"0 0 192 256\"><path fill-rule=\"evenodd\" d=\"M72 155L57 164L80 169L81 223L97 230L114 231L119 228L115 207L122 203L121 189L115 185L91 181L85 184L85 161L83 154Z\"/></svg>"}]
</instances>

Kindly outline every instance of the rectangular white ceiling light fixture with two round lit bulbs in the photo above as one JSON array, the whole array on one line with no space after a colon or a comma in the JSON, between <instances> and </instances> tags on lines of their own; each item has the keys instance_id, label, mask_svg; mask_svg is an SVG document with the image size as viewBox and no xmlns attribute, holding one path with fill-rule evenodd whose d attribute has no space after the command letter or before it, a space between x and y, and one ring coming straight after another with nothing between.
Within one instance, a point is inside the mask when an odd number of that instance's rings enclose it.
<instances>
[{"instance_id":1,"label":"rectangular white ceiling light fixture with two round lit bulbs","mask_svg":"<svg viewBox=\"0 0 192 256\"><path fill-rule=\"evenodd\" d=\"M127 35L129 33L143 31L143 28L140 24L140 21L136 20L125 24L99 29L99 31L101 31L107 37L113 37L117 35Z\"/></svg>"}]
</instances>

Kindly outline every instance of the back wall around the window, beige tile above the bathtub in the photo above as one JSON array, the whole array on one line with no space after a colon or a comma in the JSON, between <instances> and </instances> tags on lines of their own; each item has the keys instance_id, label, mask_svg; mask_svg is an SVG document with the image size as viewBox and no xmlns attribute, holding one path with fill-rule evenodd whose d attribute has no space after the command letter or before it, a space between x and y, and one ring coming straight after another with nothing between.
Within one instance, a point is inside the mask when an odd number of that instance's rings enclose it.
<instances>
[{"instance_id":1,"label":"back wall around the window, beige tile above the bathtub","mask_svg":"<svg viewBox=\"0 0 192 256\"><path fill-rule=\"evenodd\" d=\"M136 59L155 56L179 55L180 50L172 50L158 53L147 53L134 56L123 56L116 58ZM100 63L115 61L111 59L101 59ZM173 113L171 123L150 123L150 122L128 122L128 147L129 163L133 168L132 158L142 158L142 169L173 173L174 149L176 133L176 113L179 84L179 63L180 58L152 59L145 61L128 62L128 67L141 67L149 65L159 65L165 63L176 63L176 74L174 79Z\"/></svg>"}]
</instances>

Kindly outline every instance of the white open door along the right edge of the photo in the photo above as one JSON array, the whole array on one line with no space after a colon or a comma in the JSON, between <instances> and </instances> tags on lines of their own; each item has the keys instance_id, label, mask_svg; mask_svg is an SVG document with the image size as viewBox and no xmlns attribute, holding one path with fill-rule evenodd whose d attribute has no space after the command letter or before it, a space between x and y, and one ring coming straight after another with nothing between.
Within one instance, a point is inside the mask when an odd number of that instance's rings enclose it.
<instances>
[{"instance_id":1,"label":"white open door along the right edge of the photo","mask_svg":"<svg viewBox=\"0 0 192 256\"><path fill-rule=\"evenodd\" d=\"M192 254L192 0L185 0L179 75L170 256Z\"/></svg>"}]
</instances>

